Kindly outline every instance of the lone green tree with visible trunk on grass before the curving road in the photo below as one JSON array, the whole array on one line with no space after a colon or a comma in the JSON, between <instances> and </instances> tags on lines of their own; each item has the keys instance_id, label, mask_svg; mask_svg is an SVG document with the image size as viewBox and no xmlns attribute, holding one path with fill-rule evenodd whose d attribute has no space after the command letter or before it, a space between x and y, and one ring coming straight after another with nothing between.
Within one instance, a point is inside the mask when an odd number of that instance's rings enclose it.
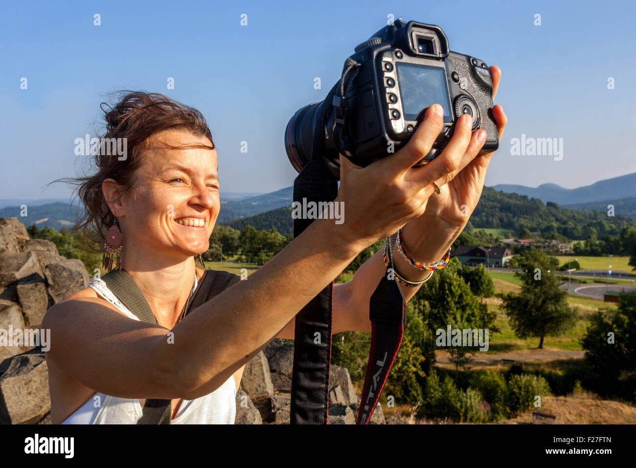
<instances>
[{"instance_id":1,"label":"lone green tree with visible trunk on grass before the curving road","mask_svg":"<svg viewBox=\"0 0 636 468\"><path fill-rule=\"evenodd\" d=\"M559 336L574 327L577 309L567 304L567 292L559 288L555 269L558 260L531 249L520 256L523 271L515 273L523 281L521 294L505 294L502 308L520 338L539 337L543 349L546 336Z\"/></svg>"}]
</instances>

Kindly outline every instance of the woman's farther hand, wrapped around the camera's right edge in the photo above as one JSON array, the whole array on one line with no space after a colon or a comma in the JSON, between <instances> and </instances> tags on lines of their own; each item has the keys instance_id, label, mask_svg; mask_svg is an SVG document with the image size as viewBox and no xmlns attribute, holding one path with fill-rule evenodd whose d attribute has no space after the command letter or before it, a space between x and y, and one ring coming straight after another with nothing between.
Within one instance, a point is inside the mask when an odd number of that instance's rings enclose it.
<instances>
[{"instance_id":1,"label":"woman's farther hand, wrapped around the camera's right edge","mask_svg":"<svg viewBox=\"0 0 636 468\"><path fill-rule=\"evenodd\" d=\"M490 67L490 76L494 98L501 78L499 67ZM497 122L501 145L508 118L499 105L494 106L492 113ZM431 263L440 260L461 234L477 206L486 170L493 155L487 153L476 156L483 146L484 140L480 141L481 134L485 139L485 131L477 130L473 133L462 157L461 167L451 171L446 178L436 180L441 193L435 193L428 199L424 214L404 226L404 245L411 257L419 262Z\"/></svg>"}]
</instances>

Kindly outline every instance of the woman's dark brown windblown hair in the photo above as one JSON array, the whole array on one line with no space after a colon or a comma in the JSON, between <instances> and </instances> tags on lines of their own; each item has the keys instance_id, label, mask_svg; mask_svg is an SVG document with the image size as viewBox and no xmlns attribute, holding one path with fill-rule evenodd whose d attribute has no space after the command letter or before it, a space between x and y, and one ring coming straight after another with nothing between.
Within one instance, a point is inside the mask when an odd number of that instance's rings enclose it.
<instances>
[{"instance_id":1,"label":"woman's dark brown windblown hair","mask_svg":"<svg viewBox=\"0 0 636 468\"><path fill-rule=\"evenodd\" d=\"M195 136L205 136L212 146L192 143L168 148L208 148L214 150L212 134L205 117L197 109L177 103L163 94L143 91L121 91L114 106L101 103L104 111L106 131L100 141L126 141L125 158L106 146L99 145L93 160L95 172L92 175L72 179L63 179L77 186L76 195L85 208L74 229L81 229L86 237L99 244L104 242L106 230L114 224L114 216L104 200L102 182L107 178L117 181L123 190L129 190L134 183L133 175L140 166L149 138L168 129L188 131ZM108 110L104 110L104 105ZM125 138L125 140L113 140ZM108 140L106 140L108 139ZM107 154L109 153L109 154Z\"/></svg>"}]
</instances>

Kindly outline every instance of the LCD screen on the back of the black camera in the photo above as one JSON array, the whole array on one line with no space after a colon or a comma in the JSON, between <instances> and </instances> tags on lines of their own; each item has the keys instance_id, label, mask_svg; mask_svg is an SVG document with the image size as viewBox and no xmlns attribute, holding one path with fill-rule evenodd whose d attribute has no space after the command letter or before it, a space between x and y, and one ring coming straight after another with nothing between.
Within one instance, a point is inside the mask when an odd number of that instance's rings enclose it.
<instances>
[{"instance_id":1,"label":"LCD screen on the back of the black camera","mask_svg":"<svg viewBox=\"0 0 636 468\"><path fill-rule=\"evenodd\" d=\"M438 103L444 109L444 121L453 121L445 69L397 62L397 82L406 120L415 120L422 109Z\"/></svg>"}]
</instances>

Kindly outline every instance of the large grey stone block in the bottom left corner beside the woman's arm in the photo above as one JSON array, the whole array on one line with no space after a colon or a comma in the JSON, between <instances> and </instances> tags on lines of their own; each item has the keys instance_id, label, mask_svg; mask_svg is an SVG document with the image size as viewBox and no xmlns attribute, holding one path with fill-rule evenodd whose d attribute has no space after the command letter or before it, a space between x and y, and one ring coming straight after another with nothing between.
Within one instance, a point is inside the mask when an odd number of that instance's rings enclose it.
<instances>
[{"instance_id":1,"label":"large grey stone block in the bottom left corner beside the woman's arm","mask_svg":"<svg viewBox=\"0 0 636 468\"><path fill-rule=\"evenodd\" d=\"M0 423L34 424L51 409L45 353L22 353L0 377Z\"/></svg>"}]
</instances>

